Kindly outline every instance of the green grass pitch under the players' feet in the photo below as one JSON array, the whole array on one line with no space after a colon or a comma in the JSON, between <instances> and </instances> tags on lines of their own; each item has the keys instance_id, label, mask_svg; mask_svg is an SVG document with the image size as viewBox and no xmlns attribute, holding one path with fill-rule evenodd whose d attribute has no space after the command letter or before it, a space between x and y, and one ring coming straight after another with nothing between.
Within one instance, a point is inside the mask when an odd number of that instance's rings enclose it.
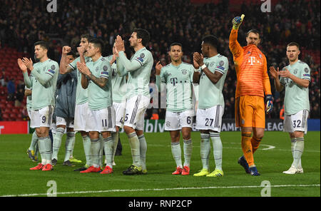
<instances>
[{"instance_id":1,"label":"green grass pitch under the players' feet","mask_svg":"<svg viewBox=\"0 0 321 211\"><path fill-rule=\"evenodd\" d=\"M201 168L200 133L192 133L193 156L190 165L191 175L171 175L175 162L170 151L168 133L146 133L148 143L148 175L122 175L131 165L131 150L125 134L121 134L123 155L116 156L114 173L81 174L71 167L62 165L64 156L63 136L58 164L51 172L29 170L36 166L26 155L31 135L0 135L0 196L31 195L46 196L47 182L54 180L58 196L126 196L126 197L259 197L267 180L272 185L271 196L317 196L320 197L320 132L308 132L305 136L305 151L302 155L300 175L285 175L292 163L290 139L287 133L266 132L259 150L255 153L255 164L261 176L247 175L237 160L242 155L240 132L223 132L223 170L224 177L193 177ZM183 146L183 144L181 144ZM270 147L275 147L265 150ZM183 148L183 147L182 147ZM210 170L214 170L213 151L210 153ZM73 155L85 160L81 136L76 134ZM183 155L183 153L182 153ZM83 164L76 164L76 168ZM273 185L290 185L273 187ZM308 185L308 186L300 186ZM316 185L316 186L312 186ZM253 186L253 187L250 187ZM208 188L205 188L208 187ZM66 192L70 192L64 194ZM81 193L79 193L81 192Z\"/></svg>"}]
</instances>

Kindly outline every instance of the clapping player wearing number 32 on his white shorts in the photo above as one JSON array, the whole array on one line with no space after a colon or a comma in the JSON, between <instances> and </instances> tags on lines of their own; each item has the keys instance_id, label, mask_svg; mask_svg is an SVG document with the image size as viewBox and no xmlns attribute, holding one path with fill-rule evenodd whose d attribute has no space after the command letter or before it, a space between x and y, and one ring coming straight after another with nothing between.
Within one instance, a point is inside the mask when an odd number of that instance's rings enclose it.
<instances>
[{"instance_id":1,"label":"clapping player wearing number 32 on his white shorts","mask_svg":"<svg viewBox=\"0 0 321 211\"><path fill-rule=\"evenodd\" d=\"M275 79L275 88L285 88L283 131L288 132L291 139L293 163L285 174L303 173L301 155L305 146L304 135L307 133L307 116L309 115L309 83L310 67L299 60L299 44L287 45L287 59L290 64L279 71L270 67L270 74ZM279 79L280 76L280 79Z\"/></svg>"}]
</instances>

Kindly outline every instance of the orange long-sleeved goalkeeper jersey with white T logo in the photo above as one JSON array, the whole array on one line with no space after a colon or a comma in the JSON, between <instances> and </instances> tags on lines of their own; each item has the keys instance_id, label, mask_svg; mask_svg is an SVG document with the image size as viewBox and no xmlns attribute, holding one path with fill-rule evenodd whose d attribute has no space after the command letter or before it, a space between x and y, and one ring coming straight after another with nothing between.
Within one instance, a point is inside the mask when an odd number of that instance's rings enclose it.
<instances>
[{"instance_id":1,"label":"orange long-sleeved goalkeeper jersey with white T logo","mask_svg":"<svg viewBox=\"0 0 321 211\"><path fill-rule=\"evenodd\" d=\"M237 76L235 98L239 96L261 96L271 94L265 55L255 45L240 46L238 30L230 32L230 51Z\"/></svg>"}]
</instances>

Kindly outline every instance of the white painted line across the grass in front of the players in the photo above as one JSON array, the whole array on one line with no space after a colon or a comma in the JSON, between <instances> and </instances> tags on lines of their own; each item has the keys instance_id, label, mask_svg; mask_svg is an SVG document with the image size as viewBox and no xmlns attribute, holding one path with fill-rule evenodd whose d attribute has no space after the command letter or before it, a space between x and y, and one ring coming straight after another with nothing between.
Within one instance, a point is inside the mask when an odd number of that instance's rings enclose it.
<instances>
[{"instance_id":1,"label":"white painted line across the grass in front of the players","mask_svg":"<svg viewBox=\"0 0 321 211\"><path fill-rule=\"evenodd\" d=\"M233 188L260 188L260 185L251 186L214 186L214 187L173 187L173 188L149 188L149 189L116 189L116 190L88 190L88 191L76 191L76 192L57 192L57 195L68 194L87 194L87 193L101 193L101 192L139 192L139 191L165 191L165 190L200 190L200 189L233 189ZM267 187L267 186L264 186ZM268 187L320 187L320 184L310 185L270 185ZM31 193L31 194L19 194L19 195L1 195L0 197L30 197L47 195L47 193Z\"/></svg>"}]
</instances>

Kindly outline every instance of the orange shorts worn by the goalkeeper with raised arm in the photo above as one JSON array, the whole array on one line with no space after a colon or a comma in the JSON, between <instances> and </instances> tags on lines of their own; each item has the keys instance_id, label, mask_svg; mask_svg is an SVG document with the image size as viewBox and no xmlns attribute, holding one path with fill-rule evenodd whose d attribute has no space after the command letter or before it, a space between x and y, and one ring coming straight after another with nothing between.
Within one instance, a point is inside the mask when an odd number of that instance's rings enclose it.
<instances>
[{"instance_id":1,"label":"orange shorts worn by the goalkeeper with raised arm","mask_svg":"<svg viewBox=\"0 0 321 211\"><path fill-rule=\"evenodd\" d=\"M235 123L238 128L265 128L264 98L260 96L236 98Z\"/></svg>"}]
</instances>

